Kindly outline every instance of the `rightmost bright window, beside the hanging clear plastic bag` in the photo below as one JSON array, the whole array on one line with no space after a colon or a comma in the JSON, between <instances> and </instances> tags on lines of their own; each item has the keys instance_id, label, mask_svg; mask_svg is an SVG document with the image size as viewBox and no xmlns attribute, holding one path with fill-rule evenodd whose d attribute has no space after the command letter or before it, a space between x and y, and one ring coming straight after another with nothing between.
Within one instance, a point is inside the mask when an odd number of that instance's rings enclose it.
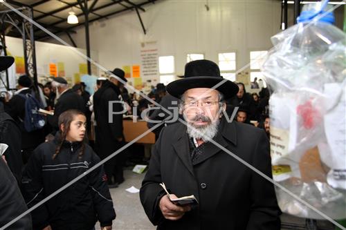
<instances>
[{"instance_id":1,"label":"rightmost bright window, beside the hanging clear plastic bag","mask_svg":"<svg viewBox=\"0 0 346 230\"><path fill-rule=\"evenodd\" d=\"M268 51L266 50L250 52L250 81L253 82L255 78L257 78L257 84L260 89L262 87L266 88L266 82L264 82L264 76L262 75L260 68L267 53ZM253 88L253 84L251 84L251 88ZM257 86L254 88L257 88Z\"/></svg>"}]
</instances>

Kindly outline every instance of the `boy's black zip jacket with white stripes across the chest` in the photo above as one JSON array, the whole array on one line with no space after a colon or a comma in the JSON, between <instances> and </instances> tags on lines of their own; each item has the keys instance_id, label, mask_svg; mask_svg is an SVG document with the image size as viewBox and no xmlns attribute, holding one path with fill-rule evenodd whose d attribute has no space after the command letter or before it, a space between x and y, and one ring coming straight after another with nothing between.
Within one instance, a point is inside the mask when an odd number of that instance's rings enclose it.
<instances>
[{"instance_id":1,"label":"boy's black zip jacket with white stripes across the chest","mask_svg":"<svg viewBox=\"0 0 346 230\"><path fill-rule=\"evenodd\" d=\"M87 144L82 157L78 157L81 142L64 142L53 160L57 144L56 138L39 145L26 165L23 187L29 208L100 162ZM92 229L97 220L102 227L111 225L116 213L103 166L37 207L32 217L33 229L39 230L48 225L54 230Z\"/></svg>"}]
</instances>

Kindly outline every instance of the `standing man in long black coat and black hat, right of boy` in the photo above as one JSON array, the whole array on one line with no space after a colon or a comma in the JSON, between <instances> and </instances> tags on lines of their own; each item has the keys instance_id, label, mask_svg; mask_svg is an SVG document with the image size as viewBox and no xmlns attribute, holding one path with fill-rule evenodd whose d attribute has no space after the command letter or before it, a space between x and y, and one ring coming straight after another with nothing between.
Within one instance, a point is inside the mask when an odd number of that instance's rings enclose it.
<instances>
[{"instance_id":1,"label":"standing man in long black coat and black hat, right of boy","mask_svg":"<svg viewBox=\"0 0 346 230\"><path fill-rule=\"evenodd\" d=\"M98 155L104 159L117 151L124 142L122 133L122 113L124 107L120 92L122 82L127 82L125 72L120 68L111 71L109 81L104 81L100 89L93 95L93 111L96 121L96 145L98 146ZM112 103L115 102L115 103ZM116 114L114 114L116 113ZM111 120L109 120L111 116ZM124 161L122 153L111 158L104 163L109 188L116 188L118 184L124 181L122 164ZM114 179L112 180L112 177Z\"/></svg>"}]
</instances>

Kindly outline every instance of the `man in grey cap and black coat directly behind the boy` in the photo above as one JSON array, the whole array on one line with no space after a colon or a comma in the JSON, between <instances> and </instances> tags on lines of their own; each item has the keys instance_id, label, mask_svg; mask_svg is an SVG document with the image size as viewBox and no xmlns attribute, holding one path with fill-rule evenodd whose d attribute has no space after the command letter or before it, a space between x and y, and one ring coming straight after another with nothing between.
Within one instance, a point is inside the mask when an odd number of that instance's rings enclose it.
<instances>
[{"instance_id":1,"label":"man in grey cap and black coat directly behind the boy","mask_svg":"<svg viewBox=\"0 0 346 230\"><path fill-rule=\"evenodd\" d=\"M55 88L57 100L54 108L54 115L48 116L48 122L53 127L53 133L59 130L57 126L57 118L60 114L70 109L76 109L78 111L85 112L86 105L84 104L83 98L75 93L63 77L53 77L52 82L53 89Z\"/></svg>"}]
</instances>

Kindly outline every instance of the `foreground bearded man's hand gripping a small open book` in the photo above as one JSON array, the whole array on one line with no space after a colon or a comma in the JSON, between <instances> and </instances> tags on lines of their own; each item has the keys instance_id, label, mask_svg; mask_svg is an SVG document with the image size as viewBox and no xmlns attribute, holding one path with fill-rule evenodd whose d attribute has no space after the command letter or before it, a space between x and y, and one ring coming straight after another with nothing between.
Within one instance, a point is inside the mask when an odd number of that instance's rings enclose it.
<instances>
[{"instance_id":1,"label":"foreground bearded man's hand gripping a small open book","mask_svg":"<svg viewBox=\"0 0 346 230\"><path fill-rule=\"evenodd\" d=\"M177 198L176 195L170 194L171 198L175 199ZM170 198L168 198L168 195L164 195L160 203L158 204L161 212L163 214L163 217L165 217L167 220L179 220L180 218L183 217L185 212L190 211L191 207L190 205L187 206L178 206L173 204L170 201Z\"/></svg>"}]
</instances>

